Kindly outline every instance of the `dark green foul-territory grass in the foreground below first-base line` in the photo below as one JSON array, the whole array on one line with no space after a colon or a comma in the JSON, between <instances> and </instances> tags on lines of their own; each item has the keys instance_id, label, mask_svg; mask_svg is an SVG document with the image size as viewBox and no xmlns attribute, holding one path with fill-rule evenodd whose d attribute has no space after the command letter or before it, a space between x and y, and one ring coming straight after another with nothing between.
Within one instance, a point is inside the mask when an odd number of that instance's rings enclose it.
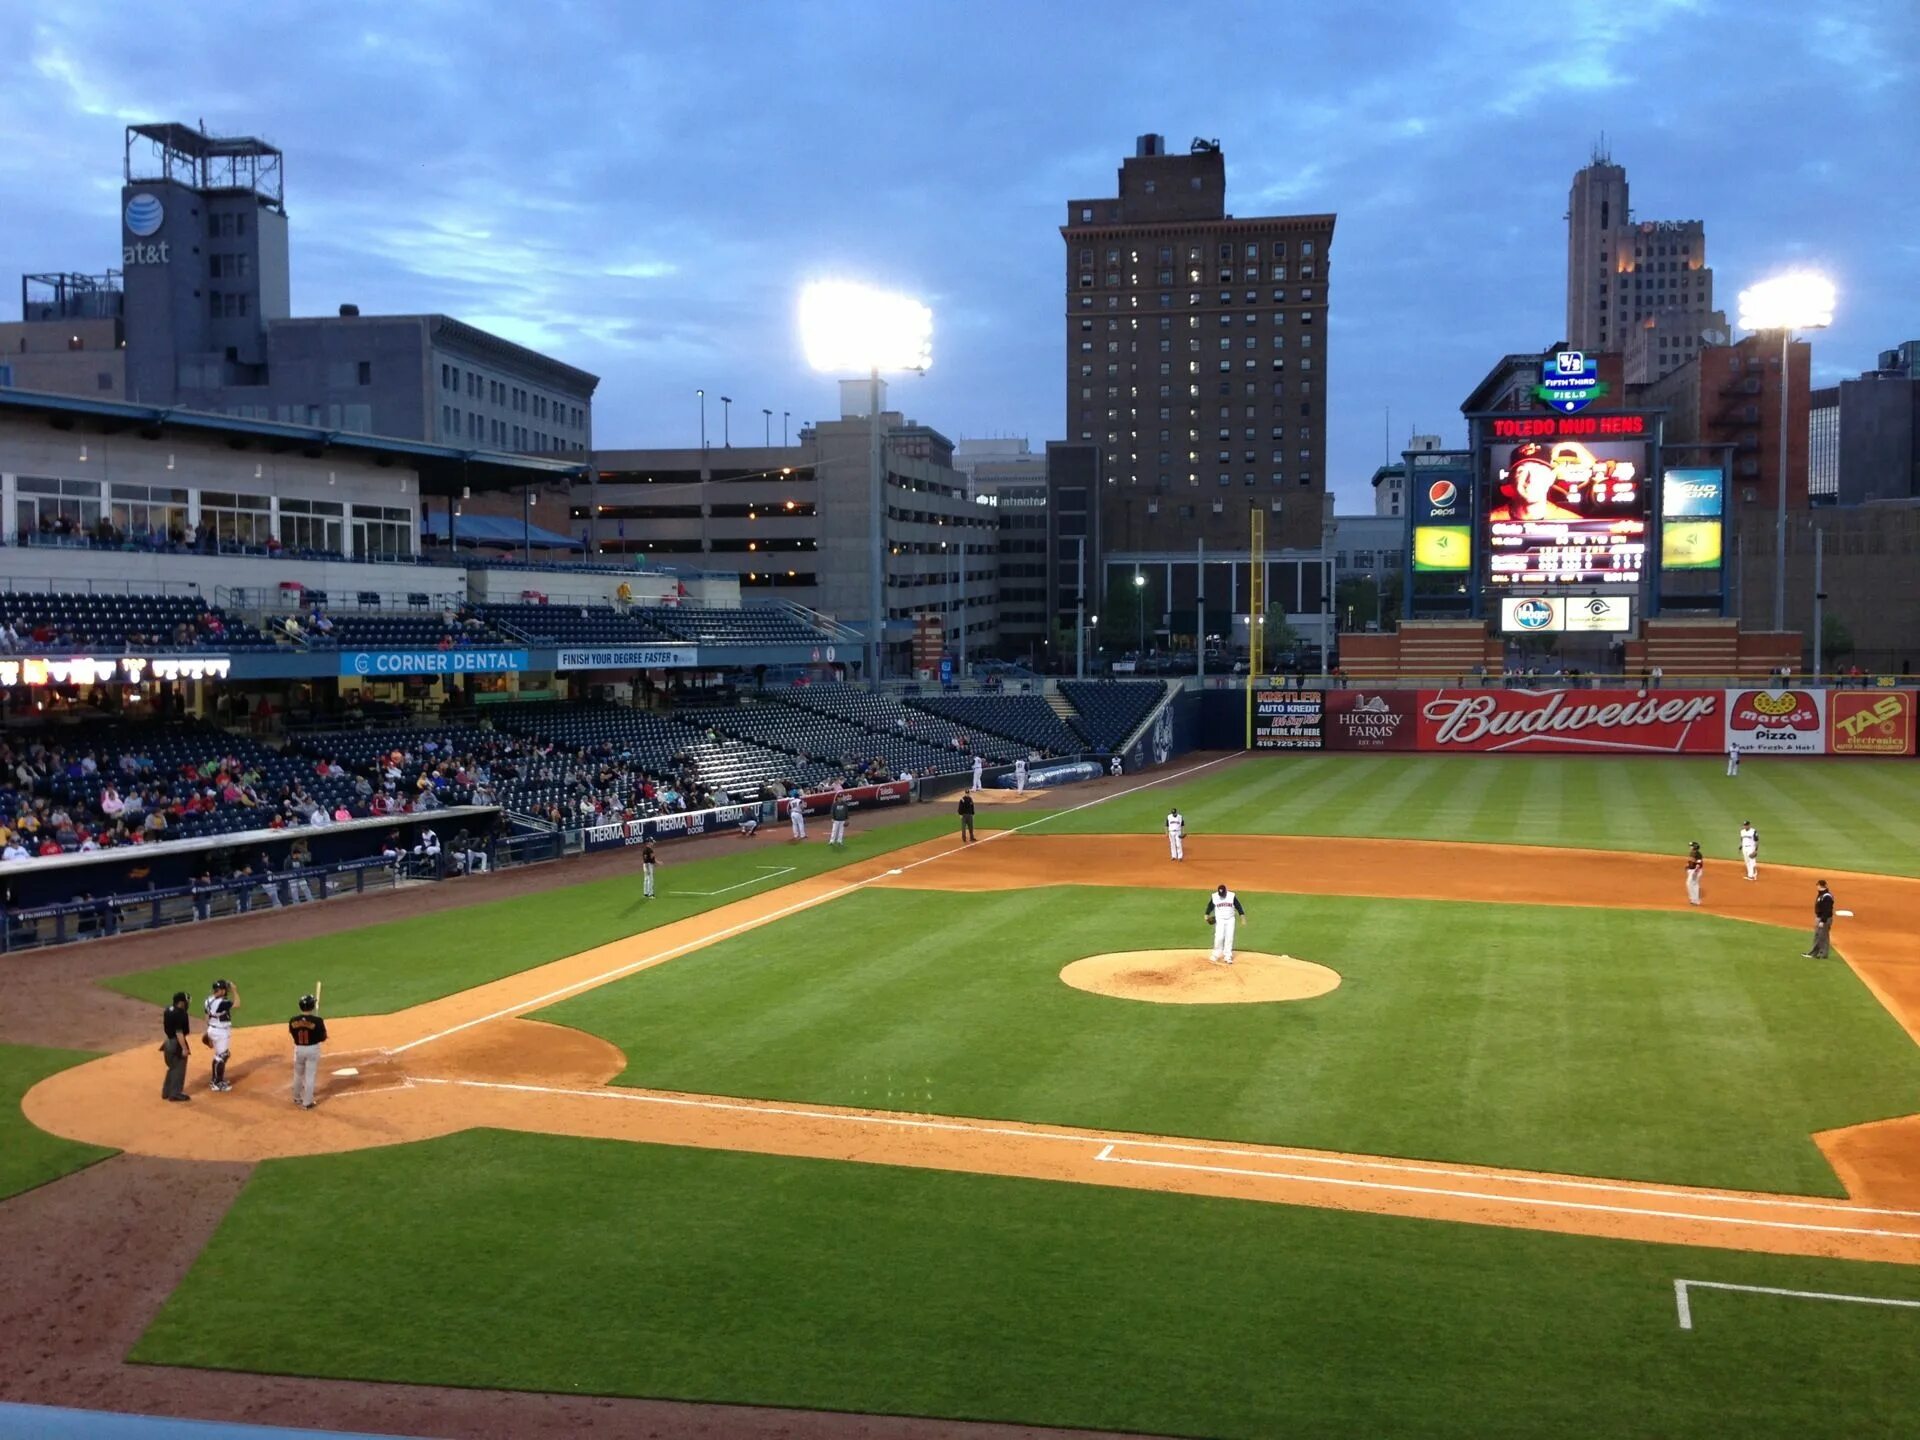
<instances>
[{"instance_id":1,"label":"dark green foul-territory grass in the foreground below first-base line","mask_svg":"<svg viewBox=\"0 0 1920 1440\"><path fill-rule=\"evenodd\" d=\"M1183 1436L1912 1434L1920 1311L1695 1292L1680 1331L1676 1277L1920 1300L1897 1265L480 1131L261 1165L132 1357Z\"/></svg>"}]
</instances>

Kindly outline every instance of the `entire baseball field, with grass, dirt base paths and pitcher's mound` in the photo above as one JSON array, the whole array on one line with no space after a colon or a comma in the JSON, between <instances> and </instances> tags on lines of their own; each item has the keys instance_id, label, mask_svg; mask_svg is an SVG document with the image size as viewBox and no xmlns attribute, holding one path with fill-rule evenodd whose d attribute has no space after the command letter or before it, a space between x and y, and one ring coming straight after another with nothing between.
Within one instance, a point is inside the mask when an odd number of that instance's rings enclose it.
<instances>
[{"instance_id":1,"label":"entire baseball field, with grass, dirt base paths and pitcher's mound","mask_svg":"<svg viewBox=\"0 0 1920 1440\"><path fill-rule=\"evenodd\" d=\"M198 1104L156 1104L152 1043L0 1050L0 1194L253 1165L152 1367L1177 1436L1912 1432L1920 766L1219 756L983 804L975 845L950 808L662 847L651 902L630 856L117 975L236 981L234 1092L196 1056Z\"/></svg>"}]
</instances>

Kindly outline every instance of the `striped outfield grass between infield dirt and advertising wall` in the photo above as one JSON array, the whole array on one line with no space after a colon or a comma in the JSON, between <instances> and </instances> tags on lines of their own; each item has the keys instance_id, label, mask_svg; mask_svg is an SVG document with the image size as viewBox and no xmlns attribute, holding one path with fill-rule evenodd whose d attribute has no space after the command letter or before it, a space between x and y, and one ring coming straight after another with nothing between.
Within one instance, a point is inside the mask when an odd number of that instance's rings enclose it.
<instances>
[{"instance_id":1,"label":"striped outfield grass between infield dirt and advertising wall","mask_svg":"<svg viewBox=\"0 0 1920 1440\"><path fill-rule=\"evenodd\" d=\"M1148 776L1150 778L1150 776ZM1740 854L1761 862L1920 876L1920 760L1548 755L1261 755L1062 814L1041 833L1390 835L1596 851Z\"/></svg>"}]
</instances>

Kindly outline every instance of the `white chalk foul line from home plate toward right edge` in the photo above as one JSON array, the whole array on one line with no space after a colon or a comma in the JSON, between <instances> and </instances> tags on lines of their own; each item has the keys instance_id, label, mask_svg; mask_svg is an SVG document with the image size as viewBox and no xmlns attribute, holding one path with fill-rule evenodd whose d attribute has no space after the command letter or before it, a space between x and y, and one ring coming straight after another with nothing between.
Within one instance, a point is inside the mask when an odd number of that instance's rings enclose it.
<instances>
[{"instance_id":1,"label":"white chalk foul line from home plate toward right edge","mask_svg":"<svg viewBox=\"0 0 1920 1440\"><path fill-rule=\"evenodd\" d=\"M417 1075L415 1083L419 1083L419 1085L457 1085L457 1087L472 1089L472 1091L515 1091L515 1092L522 1092L522 1094L561 1094L561 1096L570 1096L570 1098L576 1098L576 1100L622 1100L622 1102L628 1102L628 1104L655 1104L655 1106L670 1106L670 1108L685 1108L685 1110L732 1110L732 1112L749 1114L749 1116L774 1116L774 1117L781 1117L781 1119L826 1119L826 1121L841 1121L841 1123L849 1123L849 1125L881 1125L881 1127L893 1127L893 1129L941 1131L941 1133L950 1133L950 1135L989 1135L989 1137L1012 1137L1012 1139L1021 1139L1021 1140L1066 1140L1066 1142L1071 1142L1071 1144L1098 1144L1098 1146L1102 1146L1100 1152L1094 1154L1092 1158L1096 1162L1106 1162L1106 1164L1112 1164L1112 1165L1142 1165L1142 1167L1148 1167L1148 1169L1183 1169L1183 1171L1194 1171L1194 1173L1206 1173L1206 1175L1244 1175L1244 1177L1252 1177L1252 1179L1290 1181L1290 1183L1298 1183L1298 1185L1336 1185L1336 1187L1342 1187L1342 1188L1357 1188L1357 1190L1386 1190L1386 1192L1398 1192L1398 1194L1432 1194L1432 1196L1444 1196L1444 1198L1450 1198L1450 1200L1486 1200L1486 1202L1492 1202L1492 1204L1507 1204L1507 1206L1538 1206L1542 1210L1561 1208L1561 1210L1584 1210L1584 1212L1594 1212L1594 1213L1603 1213L1603 1215L1642 1215L1642 1217L1649 1217L1649 1219L1682 1219L1682 1221L1699 1221L1703 1225L1747 1225L1747 1227L1772 1229L1772 1231L1809 1231L1809 1233L1818 1233L1818 1235L1866 1235L1866 1236L1880 1236L1880 1238L1893 1238L1893 1240L1920 1240L1920 1231L1882 1231L1882 1229L1870 1229L1870 1227L1859 1227L1859 1225L1812 1225L1812 1223L1805 1223L1805 1221L1786 1221L1786 1219L1749 1219L1749 1217L1743 1217L1743 1215L1703 1215L1703 1213L1695 1213L1695 1212L1690 1212L1690 1210L1651 1210L1651 1208L1640 1208L1640 1206L1607 1206L1607 1204L1582 1202L1582 1200L1542 1200L1542 1198L1536 1198L1536 1196L1521 1196L1521 1194L1492 1194L1492 1192L1482 1192L1482 1190L1459 1190L1459 1188L1442 1187L1442 1185L1400 1185L1400 1183L1392 1183L1392 1181L1361 1181L1361 1179L1348 1179L1348 1177L1340 1177L1340 1175L1298 1175L1298 1173L1275 1171L1275 1169L1250 1169L1250 1167L1242 1167L1242 1165L1196 1165L1196 1164L1190 1164L1190 1162L1175 1162L1175 1160L1133 1160L1129 1156L1116 1156L1114 1154L1116 1146L1127 1146L1127 1148L1156 1148L1156 1150L1188 1150L1188 1152L1223 1154L1223 1156L1258 1156L1258 1158L1296 1160L1296 1162L1298 1160L1308 1160L1309 1164L1313 1162L1313 1158L1294 1156L1294 1154L1284 1154L1284 1152L1231 1150L1231 1148L1225 1148L1225 1146L1206 1146L1206 1144L1175 1142L1175 1140L1108 1140L1108 1139L1102 1139L1098 1135L1081 1135L1081 1133L1073 1133L1073 1131L1020 1129L1020 1127L1012 1127L1012 1125L968 1125L968 1123L962 1123L962 1121L956 1121L956 1119L920 1119L920 1117L914 1117L914 1116L883 1116L883 1114L860 1114L860 1112L837 1112L837 1110L808 1110L808 1108L801 1108L801 1106L749 1104L745 1100L703 1100L703 1098L685 1096L685 1094L641 1094L641 1092L634 1092L634 1091L612 1091L612 1089L580 1091L580 1089L568 1089L568 1087L563 1087L563 1085L528 1085L528 1083L515 1083L515 1081L470 1081L470 1079L438 1079L438 1077L428 1077L428 1075ZM1329 1160L1336 1162L1336 1164L1344 1164L1344 1165L1363 1167L1363 1169L1394 1169L1394 1171L1430 1173L1430 1175L1444 1175L1444 1177L1473 1175L1473 1177L1478 1177L1478 1179L1507 1181L1507 1183L1523 1185L1523 1187L1524 1185L1538 1185L1538 1183L1542 1183L1542 1181L1536 1181L1536 1179L1524 1177L1524 1175L1498 1175L1498 1173L1486 1173L1486 1171L1453 1171L1453 1169L1442 1169L1442 1167L1427 1169L1427 1167L1421 1167L1421 1165L1407 1165L1407 1164L1394 1164L1394 1162L1369 1164L1369 1162L1363 1162L1363 1160L1346 1160L1346 1158L1332 1158L1332 1156L1329 1156ZM1626 1185L1605 1185L1605 1183L1588 1183L1588 1181L1548 1181L1548 1183L1571 1185L1571 1187L1592 1185L1592 1188L1596 1188L1596 1190L1617 1190L1617 1192L1624 1192L1624 1194L1634 1194L1636 1192L1634 1187L1626 1187ZM1713 1192L1707 1192L1707 1194L1690 1194L1686 1190L1640 1190L1640 1192L1642 1194L1649 1194L1649 1196L1699 1198L1701 1202L1709 1202L1709 1204L1780 1204L1780 1206L1793 1206L1791 1200L1766 1200L1766 1198L1759 1198L1759 1196L1751 1196L1749 1198L1749 1196L1738 1196L1738 1194L1713 1194ZM1805 1210L1836 1210L1836 1212L1843 1212L1843 1213L1862 1213L1862 1215L1901 1215L1901 1217L1920 1219L1920 1212L1908 1212L1908 1210L1866 1210L1866 1208L1837 1206L1837 1204L1828 1204L1828 1202L1811 1202L1807 1206L1795 1206L1795 1208L1805 1208Z\"/></svg>"}]
</instances>

